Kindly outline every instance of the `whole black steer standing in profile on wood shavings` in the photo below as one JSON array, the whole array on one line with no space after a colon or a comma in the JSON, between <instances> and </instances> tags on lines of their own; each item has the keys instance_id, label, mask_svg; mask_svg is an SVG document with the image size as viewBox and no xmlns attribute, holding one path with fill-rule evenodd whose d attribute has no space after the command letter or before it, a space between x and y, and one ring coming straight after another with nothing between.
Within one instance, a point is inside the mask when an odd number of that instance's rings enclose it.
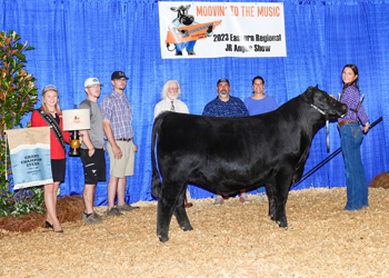
<instances>
[{"instance_id":1,"label":"whole black steer standing in profile on wood shavings","mask_svg":"<svg viewBox=\"0 0 389 278\"><path fill-rule=\"evenodd\" d=\"M173 212L183 230L193 229L184 209L188 183L223 195L265 185L269 216L287 227L288 192L302 176L315 133L328 118L346 112L346 105L309 87L277 110L259 116L160 115L151 142L151 192L159 198L157 236L162 242L169 240ZM156 163L156 136L162 182Z\"/></svg>"}]
</instances>

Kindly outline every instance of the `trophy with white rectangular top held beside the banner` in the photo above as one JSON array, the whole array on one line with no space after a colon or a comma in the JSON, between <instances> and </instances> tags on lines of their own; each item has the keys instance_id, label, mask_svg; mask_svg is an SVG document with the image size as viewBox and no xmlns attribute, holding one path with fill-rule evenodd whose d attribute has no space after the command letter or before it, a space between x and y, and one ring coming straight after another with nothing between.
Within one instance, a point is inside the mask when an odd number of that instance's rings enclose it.
<instances>
[{"instance_id":1,"label":"trophy with white rectangular top held beside the banner","mask_svg":"<svg viewBox=\"0 0 389 278\"><path fill-rule=\"evenodd\" d=\"M72 131L69 157L79 157L81 152L78 130L90 129L89 109L62 110L62 121L63 130Z\"/></svg>"}]
</instances>

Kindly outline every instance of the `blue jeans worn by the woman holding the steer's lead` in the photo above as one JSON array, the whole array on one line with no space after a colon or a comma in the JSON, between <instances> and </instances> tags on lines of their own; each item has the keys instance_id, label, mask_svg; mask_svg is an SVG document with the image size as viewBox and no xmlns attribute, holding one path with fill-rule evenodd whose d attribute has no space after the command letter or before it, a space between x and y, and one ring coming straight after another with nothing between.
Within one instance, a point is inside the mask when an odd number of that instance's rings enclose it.
<instances>
[{"instance_id":1,"label":"blue jeans worn by the woman holding the steer's lead","mask_svg":"<svg viewBox=\"0 0 389 278\"><path fill-rule=\"evenodd\" d=\"M363 139L359 123L347 123L339 127L341 148L346 166L347 210L358 210L369 207L368 182L360 156L360 145Z\"/></svg>"}]
</instances>

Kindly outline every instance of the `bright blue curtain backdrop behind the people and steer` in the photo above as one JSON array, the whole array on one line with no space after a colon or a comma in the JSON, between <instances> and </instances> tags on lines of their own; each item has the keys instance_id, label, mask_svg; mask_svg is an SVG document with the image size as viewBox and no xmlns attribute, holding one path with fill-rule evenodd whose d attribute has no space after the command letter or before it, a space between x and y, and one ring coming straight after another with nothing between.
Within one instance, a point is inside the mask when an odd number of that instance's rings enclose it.
<instances>
[{"instance_id":1,"label":"bright blue curtain backdrop behind the people and steer","mask_svg":"<svg viewBox=\"0 0 389 278\"><path fill-rule=\"evenodd\" d=\"M130 78L126 95L132 106L134 142L139 147L134 176L128 178L130 202L153 199L153 107L168 79L181 83L182 100L190 112L201 115L206 103L217 96L219 78L228 78L231 95L243 100L251 95L252 78L260 75L266 81L266 93L282 105L316 85L338 96L342 67L356 63L370 122L383 117L361 146L367 179L388 171L389 1L282 2L288 53L285 58L162 60L158 2L151 0L0 0L0 26L4 31L14 30L22 41L28 40L36 48L27 52L27 69L38 79L39 88L49 83L58 87L62 109L72 109L87 97L83 82L89 77L104 83L99 103L112 89L110 76L114 70L122 70ZM330 145L331 151L340 147L335 123L330 125ZM321 129L312 141L306 171L328 155L326 130ZM345 185L343 159L339 155L296 189ZM66 182L60 188L61 195L82 192L80 158L68 158ZM193 198L212 196L192 186L190 191ZM107 182L98 183L96 205L107 205Z\"/></svg>"}]
</instances>

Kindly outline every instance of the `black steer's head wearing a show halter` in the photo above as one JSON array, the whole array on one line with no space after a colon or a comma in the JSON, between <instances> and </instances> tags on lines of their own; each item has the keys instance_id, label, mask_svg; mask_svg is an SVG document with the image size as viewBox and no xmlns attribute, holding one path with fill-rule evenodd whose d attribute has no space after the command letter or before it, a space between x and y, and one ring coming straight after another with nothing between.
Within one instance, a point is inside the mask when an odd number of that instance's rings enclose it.
<instances>
[{"instance_id":1,"label":"black steer's head wearing a show halter","mask_svg":"<svg viewBox=\"0 0 389 278\"><path fill-rule=\"evenodd\" d=\"M309 87L302 95L302 99L327 118L341 118L347 113L347 106L331 98L326 91L319 90L318 86Z\"/></svg>"}]
</instances>

